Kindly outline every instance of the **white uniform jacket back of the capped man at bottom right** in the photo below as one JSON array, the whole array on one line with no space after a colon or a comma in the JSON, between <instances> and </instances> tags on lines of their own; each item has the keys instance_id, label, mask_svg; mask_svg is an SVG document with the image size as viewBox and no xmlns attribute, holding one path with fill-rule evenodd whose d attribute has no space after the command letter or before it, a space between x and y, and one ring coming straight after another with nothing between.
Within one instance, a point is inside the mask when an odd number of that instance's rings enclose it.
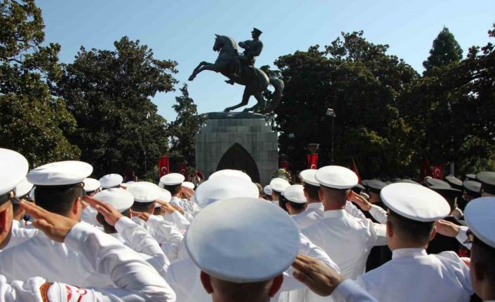
<instances>
[{"instance_id":1,"label":"white uniform jacket back of the capped man at bottom right","mask_svg":"<svg viewBox=\"0 0 495 302\"><path fill-rule=\"evenodd\" d=\"M426 254L425 249L395 249L392 260L356 280L380 302L469 301L469 268L454 252Z\"/></svg>"}]
</instances>

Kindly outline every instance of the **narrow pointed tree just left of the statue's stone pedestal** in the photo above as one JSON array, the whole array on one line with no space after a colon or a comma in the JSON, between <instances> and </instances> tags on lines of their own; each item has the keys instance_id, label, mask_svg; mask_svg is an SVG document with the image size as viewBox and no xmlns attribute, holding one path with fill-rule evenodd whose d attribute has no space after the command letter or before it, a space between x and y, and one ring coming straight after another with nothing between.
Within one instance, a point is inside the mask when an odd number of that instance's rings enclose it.
<instances>
[{"instance_id":1,"label":"narrow pointed tree just left of the statue's stone pedestal","mask_svg":"<svg viewBox=\"0 0 495 302\"><path fill-rule=\"evenodd\" d=\"M198 109L194 100L189 97L187 84L180 88L182 95L175 97L176 104L172 108L177 113L175 121L168 125L170 136L170 159L172 164L182 163L187 160L189 166L195 167L195 138L205 123L205 117L198 115Z\"/></svg>"}]
</instances>

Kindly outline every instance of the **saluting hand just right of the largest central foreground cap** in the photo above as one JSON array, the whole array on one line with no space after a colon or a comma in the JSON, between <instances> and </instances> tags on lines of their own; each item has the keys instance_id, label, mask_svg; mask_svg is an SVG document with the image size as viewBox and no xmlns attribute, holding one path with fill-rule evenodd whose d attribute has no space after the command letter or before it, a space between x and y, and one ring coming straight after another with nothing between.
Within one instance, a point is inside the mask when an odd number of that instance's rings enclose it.
<instances>
[{"instance_id":1,"label":"saluting hand just right of the largest central foreground cap","mask_svg":"<svg viewBox=\"0 0 495 302\"><path fill-rule=\"evenodd\" d=\"M295 268L292 275L320 296L330 296L334 289L344 281L339 273L322 261L303 254L297 255L292 267Z\"/></svg>"}]
</instances>

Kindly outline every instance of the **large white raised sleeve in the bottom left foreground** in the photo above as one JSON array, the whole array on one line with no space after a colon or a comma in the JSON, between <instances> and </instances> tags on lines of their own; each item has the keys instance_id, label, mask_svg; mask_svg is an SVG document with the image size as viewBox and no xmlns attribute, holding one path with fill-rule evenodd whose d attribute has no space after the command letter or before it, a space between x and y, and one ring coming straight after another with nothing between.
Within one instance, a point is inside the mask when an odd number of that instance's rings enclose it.
<instances>
[{"instance_id":1,"label":"large white raised sleeve in the bottom left foreground","mask_svg":"<svg viewBox=\"0 0 495 302\"><path fill-rule=\"evenodd\" d=\"M156 270L110 235L86 224L76 224L64 243L81 254L91 269L108 275L118 287L96 289L93 301L175 301L174 291Z\"/></svg>"}]
</instances>

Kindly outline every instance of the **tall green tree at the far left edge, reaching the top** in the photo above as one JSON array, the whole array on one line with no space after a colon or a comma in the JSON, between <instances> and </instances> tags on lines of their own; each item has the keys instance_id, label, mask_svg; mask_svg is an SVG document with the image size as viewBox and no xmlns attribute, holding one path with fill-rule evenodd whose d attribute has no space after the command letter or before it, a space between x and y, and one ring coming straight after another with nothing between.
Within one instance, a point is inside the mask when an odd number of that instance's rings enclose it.
<instances>
[{"instance_id":1,"label":"tall green tree at the far left edge, reaching the top","mask_svg":"<svg viewBox=\"0 0 495 302\"><path fill-rule=\"evenodd\" d=\"M60 78L60 46L45 39L34 1L0 3L0 146L26 156L34 166L77 159L79 149L64 132L76 121L50 87Z\"/></svg>"}]
</instances>

